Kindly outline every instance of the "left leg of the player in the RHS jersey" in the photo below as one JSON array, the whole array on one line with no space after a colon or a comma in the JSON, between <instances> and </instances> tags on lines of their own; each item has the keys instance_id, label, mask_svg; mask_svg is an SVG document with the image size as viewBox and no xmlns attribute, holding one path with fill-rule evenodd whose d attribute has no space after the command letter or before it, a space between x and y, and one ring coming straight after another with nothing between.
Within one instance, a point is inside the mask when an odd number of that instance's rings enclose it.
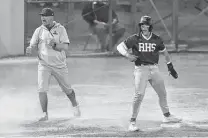
<instances>
[{"instance_id":1,"label":"left leg of the player in the RHS jersey","mask_svg":"<svg viewBox=\"0 0 208 138\"><path fill-rule=\"evenodd\" d=\"M147 66L140 66L134 70L135 93L132 104L132 113L130 119L129 131L136 131L136 118L144 98L145 89L149 79L149 70Z\"/></svg>"}]
</instances>

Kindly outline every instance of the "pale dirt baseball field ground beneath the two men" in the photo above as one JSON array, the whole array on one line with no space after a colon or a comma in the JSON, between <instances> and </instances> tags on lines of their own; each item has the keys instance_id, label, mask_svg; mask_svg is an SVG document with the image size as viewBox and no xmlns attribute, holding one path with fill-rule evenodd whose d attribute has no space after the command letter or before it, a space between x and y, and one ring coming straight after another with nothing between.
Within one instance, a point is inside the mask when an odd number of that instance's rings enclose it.
<instances>
[{"instance_id":1,"label":"pale dirt baseball field ground beneath the two men","mask_svg":"<svg viewBox=\"0 0 208 138\"><path fill-rule=\"evenodd\" d=\"M161 55L171 112L184 121L162 124L158 97L148 84L138 116L139 132L128 132L134 93L132 63L122 57L68 58L69 79L82 116L74 118L72 106L52 78L49 120L38 122L41 108L37 94L34 58L0 61L0 137L207 137L208 55L171 54L177 80L169 76Z\"/></svg>"}]
</instances>

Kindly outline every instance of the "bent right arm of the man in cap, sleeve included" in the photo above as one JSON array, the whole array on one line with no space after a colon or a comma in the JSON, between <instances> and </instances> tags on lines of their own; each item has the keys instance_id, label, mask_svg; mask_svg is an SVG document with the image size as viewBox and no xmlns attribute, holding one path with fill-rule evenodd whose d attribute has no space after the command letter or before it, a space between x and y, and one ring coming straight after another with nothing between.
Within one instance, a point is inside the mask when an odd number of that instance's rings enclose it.
<instances>
[{"instance_id":1,"label":"bent right arm of the man in cap, sleeve included","mask_svg":"<svg viewBox=\"0 0 208 138\"><path fill-rule=\"evenodd\" d=\"M56 51L61 52L62 50L64 51L68 51L69 50L69 38L66 32L66 29L64 27L62 27L62 31L60 34L60 43L56 43L53 46L53 49Z\"/></svg>"}]
</instances>

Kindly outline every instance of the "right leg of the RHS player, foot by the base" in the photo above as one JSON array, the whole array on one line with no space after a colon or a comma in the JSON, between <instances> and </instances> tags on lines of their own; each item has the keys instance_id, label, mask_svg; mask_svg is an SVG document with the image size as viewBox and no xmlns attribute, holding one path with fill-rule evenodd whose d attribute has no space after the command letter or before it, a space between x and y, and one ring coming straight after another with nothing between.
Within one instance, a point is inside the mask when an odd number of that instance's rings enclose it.
<instances>
[{"instance_id":1,"label":"right leg of the RHS player, foot by the base","mask_svg":"<svg viewBox=\"0 0 208 138\"><path fill-rule=\"evenodd\" d=\"M169 111L168 102L167 102L167 92L165 88L164 79L162 74L159 71L158 66L152 67L152 76L150 84L156 91L159 97L159 105L164 115L164 122L179 122L180 118L175 117Z\"/></svg>"}]
</instances>

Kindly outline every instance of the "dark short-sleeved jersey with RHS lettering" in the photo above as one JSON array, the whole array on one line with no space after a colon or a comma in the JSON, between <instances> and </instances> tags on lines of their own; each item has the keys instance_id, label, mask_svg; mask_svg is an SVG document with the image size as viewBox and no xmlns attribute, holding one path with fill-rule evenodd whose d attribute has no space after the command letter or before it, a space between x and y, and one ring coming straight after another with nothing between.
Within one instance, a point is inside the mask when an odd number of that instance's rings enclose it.
<instances>
[{"instance_id":1,"label":"dark short-sleeved jersey with RHS lettering","mask_svg":"<svg viewBox=\"0 0 208 138\"><path fill-rule=\"evenodd\" d=\"M128 49L132 49L133 55L138 56L135 65L158 64L159 52L165 50L163 40L154 33L149 38L145 38L142 34L134 34L124 43Z\"/></svg>"}]
</instances>

